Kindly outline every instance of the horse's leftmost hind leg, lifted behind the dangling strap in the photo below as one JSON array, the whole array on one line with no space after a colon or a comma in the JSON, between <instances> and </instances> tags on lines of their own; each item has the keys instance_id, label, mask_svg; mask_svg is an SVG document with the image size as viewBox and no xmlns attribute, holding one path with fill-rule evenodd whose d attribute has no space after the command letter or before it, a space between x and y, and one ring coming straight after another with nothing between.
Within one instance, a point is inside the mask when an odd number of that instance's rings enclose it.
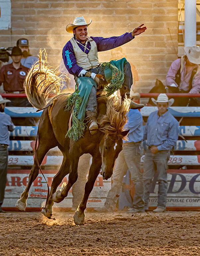
<instances>
[{"instance_id":1,"label":"horse's leftmost hind leg, lifted behind the dangling strap","mask_svg":"<svg viewBox=\"0 0 200 256\"><path fill-rule=\"evenodd\" d=\"M44 145L42 145L42 143L39 144L38 149L37 149L37 156L38 156L38 161L41 164L45 155L47 154L47 152L49 151L49 147L44 147ZM29 180L28 180L28 184L25 188L25 190L22 192L20 199L16 202L15 206L20 209L21 211L25 211L26 209L26 201L29 197L29 190L31 188L32 183L34 182L34 180L37 178L39 174L39 167L36 163L36 160L34 159L34 164L33 167L31 168L31 172L29 174Z\"/></svg>"}]
</instances>

